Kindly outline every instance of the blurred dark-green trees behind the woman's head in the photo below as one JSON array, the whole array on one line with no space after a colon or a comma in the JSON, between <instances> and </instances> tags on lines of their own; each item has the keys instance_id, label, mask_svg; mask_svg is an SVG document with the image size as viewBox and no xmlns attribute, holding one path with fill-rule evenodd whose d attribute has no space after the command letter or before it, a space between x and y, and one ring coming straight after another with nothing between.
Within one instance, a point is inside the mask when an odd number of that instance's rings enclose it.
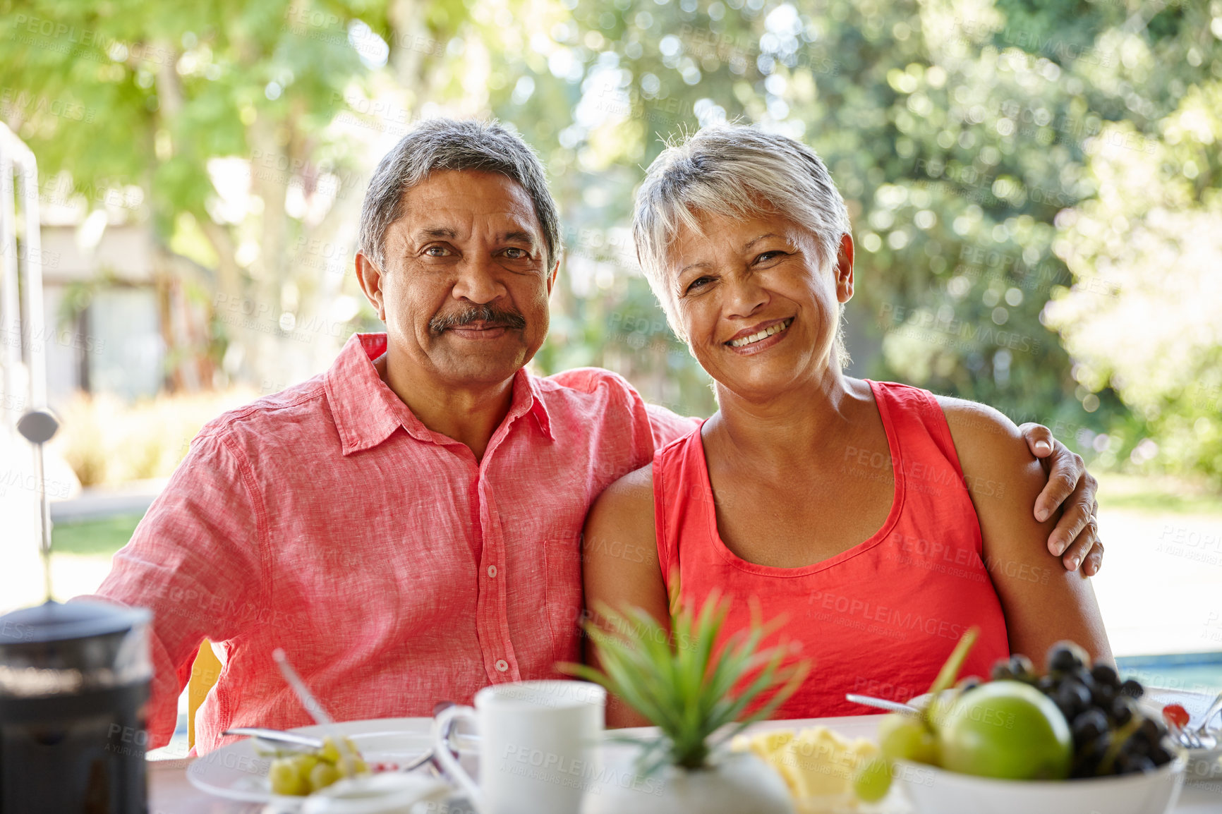
<instances>
[{"instance_id":1,"label":"blurred dark-green trees behind the woman's head","mask_svg":"<svg viewBox=\"0 0 1222 814\"><path fill-rule=\"evenodd\" d=\"M871 335L881 342L859 373L1059 425L1070 444L1079 429L1125 418L1110 389L1080 390L1041 323L1051 292L1073 281L1052 252L1053 219L1095 196L1084 165L1106 122L1129 121L1145 137L1185 88L1222 71L1209 33L1216 12L1061 0L566 5L572 18L532 40L547 70L530 68L529 83L580 89L551 155L554 172L583 191L566 199L572 253L596 260L595 281L604 274L605 287L577 306L587 318L578 346L606 351L623 341L626 319L661 319L631 251L604 255L598 242L628 220L633 187L664 141L748 121L813 145L847 199L859 246L851 328L866 347ZM1154 71L1138 51L1184 70ZM494 106L525 122L533 101L519 90L494 95ZM551 116L541 123L558 127ZM589 336L591 318L610 342ZM571 358L573 337L558 336L545 363ZM631 365L692 367L664 347L653 359L638 347ZM681 403L706 403L701 376L675 380Z\"/></svg>"}]
</instances>

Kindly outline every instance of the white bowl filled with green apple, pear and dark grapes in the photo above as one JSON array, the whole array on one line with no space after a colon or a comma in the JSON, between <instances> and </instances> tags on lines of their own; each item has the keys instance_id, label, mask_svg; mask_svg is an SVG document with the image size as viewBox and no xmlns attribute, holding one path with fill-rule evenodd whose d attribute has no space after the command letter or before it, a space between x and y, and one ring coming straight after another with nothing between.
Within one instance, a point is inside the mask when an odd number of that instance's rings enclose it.
<instances>
[{"instance_id":1,"label":"white bowl filled with green apple, pear and dark grapes","mask_svg":"<svg viewBox=\"0 0 1222 814\"><path fill-rule=\"evenodd\" d=\"M1139 704L1144 688L1094 665L1077 644L1048 650L1047 672L1014 655L991 680L951 688L969 632L919 713L879 726L880 757L855 779L863 801L892 781L923 814L1161 814L1179 797L1182 750Z\"/></svg>"}]
</instances>

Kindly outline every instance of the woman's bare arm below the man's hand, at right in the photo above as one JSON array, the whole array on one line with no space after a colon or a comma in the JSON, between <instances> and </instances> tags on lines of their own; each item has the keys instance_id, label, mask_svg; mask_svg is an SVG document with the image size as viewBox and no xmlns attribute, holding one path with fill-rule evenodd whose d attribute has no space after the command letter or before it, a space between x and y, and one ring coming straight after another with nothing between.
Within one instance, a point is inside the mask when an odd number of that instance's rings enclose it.
<instances>
[{"instance_id":1,"label":"woman's bare arm below the man's hand, at right","mask_svg":"<svg viewBox=\"0 0 1222 814\"><path fill-rule=\"evenodd\" d=\"M1031 505L1046 478L1013 422L992 407L940 397L984 535L985 566L1006 614L1012 653L1042 667L1059 639L1072 639L1096 660L1112 649L1090 581L1066 571L1044 545L1057 513L1042 523Z\"/></svg>"}]
</instances>

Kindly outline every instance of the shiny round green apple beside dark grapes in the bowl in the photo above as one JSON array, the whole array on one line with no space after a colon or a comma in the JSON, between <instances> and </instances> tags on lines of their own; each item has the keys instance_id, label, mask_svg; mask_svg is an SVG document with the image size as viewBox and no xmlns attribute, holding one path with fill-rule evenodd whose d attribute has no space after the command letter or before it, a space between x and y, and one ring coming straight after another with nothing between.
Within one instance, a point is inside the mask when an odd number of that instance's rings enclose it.
<instances>
[{"instance_id":1,"label":"shiny round green apple beside dark grapes in the bowl","mask_svg":"<svg viewBox=\"0 0 1222 814\"><path fill-rule=\"evenodd\" d=\"M940 722L938 748L943 769L1004 780L1062 780L1073 760L1064 715L1018 681L963 693Z\"/></svg>"}]
</instances>

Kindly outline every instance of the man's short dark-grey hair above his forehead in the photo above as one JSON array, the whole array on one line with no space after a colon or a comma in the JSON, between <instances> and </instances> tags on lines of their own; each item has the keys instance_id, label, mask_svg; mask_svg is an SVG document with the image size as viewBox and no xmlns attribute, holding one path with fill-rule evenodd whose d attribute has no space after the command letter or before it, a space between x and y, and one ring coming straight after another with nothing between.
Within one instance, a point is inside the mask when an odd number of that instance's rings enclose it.
<instances>
[{"instance_id":1,"label":"man's short dark-grey hair above his forehead","mask_svg":"<svg viewBox=\"0 0 1222 814\"><path fill-rule=\"evenodd\" d=\"M499 172L522 185L534 202L547 243L547 270L560 257L560 213L539 156L517 133L495 121L429 119L387 153L369 180L360 208L358 251L386 269L386 230L404 214L404 193L441 170Z\"/></svg>"}]
</instances>

